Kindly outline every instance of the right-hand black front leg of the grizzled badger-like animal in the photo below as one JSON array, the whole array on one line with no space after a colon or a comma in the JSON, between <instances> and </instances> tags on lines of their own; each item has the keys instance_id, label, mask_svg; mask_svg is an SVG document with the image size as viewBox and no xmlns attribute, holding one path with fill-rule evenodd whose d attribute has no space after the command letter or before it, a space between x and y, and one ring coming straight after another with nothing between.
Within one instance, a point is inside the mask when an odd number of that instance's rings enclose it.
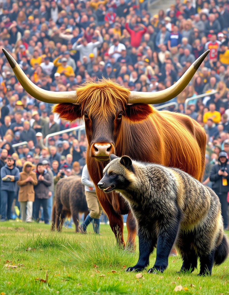
<instances>
[{"instance_id":1,"label":"right-hand black front leg of the grizzled badger-like animal","mask_svg":"<svg viewBox=\"0 0 229 295\"><path fill-rule=\"evenodd\" d=\"M168 257L170 250L175 242L178 228L179 217L174 220L163 219L160 221L160 230L157 238L157 256L153 268L148 270L148 273L155 273L156 271L163 272L168 266Z\"/></svg>"}]
</instances>

